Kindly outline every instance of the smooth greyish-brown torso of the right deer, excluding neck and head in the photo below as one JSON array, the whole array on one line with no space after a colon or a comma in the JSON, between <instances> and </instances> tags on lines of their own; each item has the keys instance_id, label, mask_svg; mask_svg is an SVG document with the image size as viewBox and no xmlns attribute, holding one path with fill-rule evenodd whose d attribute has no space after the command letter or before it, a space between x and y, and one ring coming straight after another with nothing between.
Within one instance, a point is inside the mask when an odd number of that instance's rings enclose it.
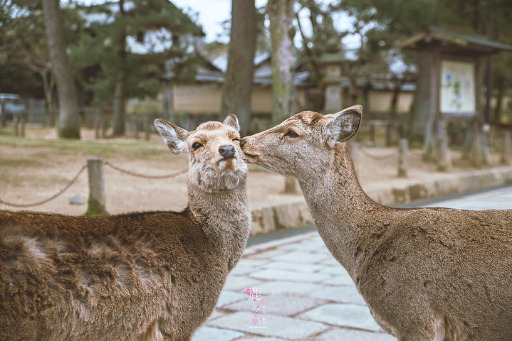
<instances>
[{"instance_id":1,"label":"smooth greyish-brown torso of the right deer, excluding neck and head","mask_svg":"<svg viewBox=\"0 0 512 341\"><path fill-rule=\"evenodd\" d=\"M474 335L467 340L509 340L512 210L380 213L355 278L377 319L438 321L454 335Z\"/></svg>"}]
</instances>

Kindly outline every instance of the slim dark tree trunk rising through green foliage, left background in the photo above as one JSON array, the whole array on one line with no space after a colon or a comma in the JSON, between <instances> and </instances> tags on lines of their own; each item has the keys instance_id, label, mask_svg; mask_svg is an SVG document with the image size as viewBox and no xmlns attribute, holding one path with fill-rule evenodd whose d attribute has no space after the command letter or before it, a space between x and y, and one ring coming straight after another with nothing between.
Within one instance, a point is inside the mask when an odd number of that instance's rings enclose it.
<instances>
[{"instance_id":1,"label":"slim dark tree trunk rising through green foliage, left background","mask_svg":"<svg viewBox=\"0 0 512 341\"><path fill-rule=\"evenodd\" d=\"M119 14L125 15L125 1L119 1ZM125 134L125 82L126 82L126 33L123 27L118 40L119 49L117 51L117 70L115 72L115 90L113 103L113 136L122 136Z\"/></svg>"}]
</instances>

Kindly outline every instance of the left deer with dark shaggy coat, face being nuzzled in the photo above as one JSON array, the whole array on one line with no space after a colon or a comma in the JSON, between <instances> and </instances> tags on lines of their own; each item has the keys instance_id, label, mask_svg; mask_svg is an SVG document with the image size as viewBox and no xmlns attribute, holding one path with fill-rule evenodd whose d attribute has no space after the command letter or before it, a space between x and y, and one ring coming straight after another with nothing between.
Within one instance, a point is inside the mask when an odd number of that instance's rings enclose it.
<instances>
[{"instance_id":1,"label":"left deer with dark shaggy coat, face being nuzzled","mask_svg":"<svg viewBox=\"0 0 512 341\"><path fill-rule=\"evenodd\" d=\"M189 340L214 310L251 226L238 120L155 126L189 157L183 212L0 211L0 340Z\"/></svg>"}]
</instances>

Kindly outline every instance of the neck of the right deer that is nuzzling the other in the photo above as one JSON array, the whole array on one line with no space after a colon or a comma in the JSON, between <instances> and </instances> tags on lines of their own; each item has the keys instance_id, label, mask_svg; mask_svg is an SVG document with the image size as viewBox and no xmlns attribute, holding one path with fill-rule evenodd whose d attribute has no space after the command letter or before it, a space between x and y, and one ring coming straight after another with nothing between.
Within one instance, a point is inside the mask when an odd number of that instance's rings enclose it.
<instances>
[{"instance_id":1,"label":"neck of the right deer that is nuzzling the other","mask_svg":"<svg viewBox=\"0 0 512 341\"><path fill-rule=\"evenodd\" d=\"M340 146L326 161L324 175L299 183L320 237L355 278L356 255L372 247L371 220L381 206L362 190L347 149Z\"/></svg>"}]
</instances>

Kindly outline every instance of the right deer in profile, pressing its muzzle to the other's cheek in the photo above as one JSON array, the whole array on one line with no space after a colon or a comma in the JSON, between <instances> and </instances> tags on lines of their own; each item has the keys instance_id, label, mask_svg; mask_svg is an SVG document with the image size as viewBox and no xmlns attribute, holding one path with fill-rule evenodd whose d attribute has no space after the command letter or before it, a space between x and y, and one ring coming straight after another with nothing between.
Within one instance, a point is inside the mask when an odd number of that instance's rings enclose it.
<instances>
[{"instance_id":1,"label":"right deer in profile, pressing its muzzle to the other's cheek","mask_svg":"<svg viewBox=\"0 0 512 341\"><path fill-rule=\"evenodd\" d=\"M361 112L302 112L241 144L249 162L298 179L318 233L387 332L400 341L512 340L512 210L372 201L345 144Z\"/></svg>"}]
</instances>

